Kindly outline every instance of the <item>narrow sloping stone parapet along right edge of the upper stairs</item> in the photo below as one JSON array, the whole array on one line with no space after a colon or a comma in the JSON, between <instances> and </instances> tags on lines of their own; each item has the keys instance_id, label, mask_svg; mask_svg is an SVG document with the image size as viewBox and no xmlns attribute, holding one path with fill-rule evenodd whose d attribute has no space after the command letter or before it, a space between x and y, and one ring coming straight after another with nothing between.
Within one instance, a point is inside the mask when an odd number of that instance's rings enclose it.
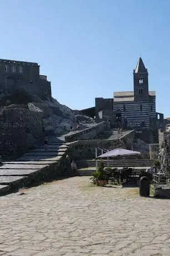
<instances>
[{"instance_id":1,"label":"narrow sloping stone parapet along right edge of the upper stairs","mask_svg":"<svg viewBox=\"0 0 170 256\"><path fill-rule=\"evenodd\" d=\"M76 132L75 134L68 135L65 137L66 141L77 141L77 140L89 140L93 139L100 132L108 129L108 123L103 121L97 125L84 129L82 131Z\"/></svg>"}]
</instances>

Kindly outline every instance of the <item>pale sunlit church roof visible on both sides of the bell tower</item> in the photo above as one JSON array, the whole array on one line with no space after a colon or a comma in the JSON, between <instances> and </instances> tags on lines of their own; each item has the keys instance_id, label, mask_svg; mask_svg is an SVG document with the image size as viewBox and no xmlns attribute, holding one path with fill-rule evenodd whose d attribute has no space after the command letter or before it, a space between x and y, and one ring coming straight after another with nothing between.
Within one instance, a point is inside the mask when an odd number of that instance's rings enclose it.
<instances>
[{"instance_id":1,"label":"pale sunlit church roof visible on both sides of the bell tower","mask_svg":"<svg viewBox=\"0 0 170 256\"><path fill-rule=\"evenodd\" d=\"M134 92L114 92L114 102L134 101ZM156 91L149 91L149 96L156 96Z\"/></svg>"}]
</instances>

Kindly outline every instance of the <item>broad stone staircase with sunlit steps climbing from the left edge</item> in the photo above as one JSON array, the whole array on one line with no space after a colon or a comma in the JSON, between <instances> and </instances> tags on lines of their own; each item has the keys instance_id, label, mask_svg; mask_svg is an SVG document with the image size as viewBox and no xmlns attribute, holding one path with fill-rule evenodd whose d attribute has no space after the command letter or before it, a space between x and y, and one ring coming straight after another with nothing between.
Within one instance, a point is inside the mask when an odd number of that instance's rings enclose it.
<instances>
[{"instance_id":1,"label":"broad stone staircase with sunlit steps climbing from the left edge","mask_svg":"<svg viewBox=\"0 0 170 256\"><path fill-rule=\"evenodd\" d=\"M56 135L49 136L47 151L42 145L27 151L17 160L2 162L0 165L0 193L6 193L15 187L22 187L24 184L28 184L30 180L34 181L34 177L39 173L46 176L50 172L55 173L55 168L58 168L57 163L61 163L59 161L61 161L62 156L67 155L69 142L66 142L65 137L78 131L70 131L58 137Z\"/></svg>"}]
</instances>

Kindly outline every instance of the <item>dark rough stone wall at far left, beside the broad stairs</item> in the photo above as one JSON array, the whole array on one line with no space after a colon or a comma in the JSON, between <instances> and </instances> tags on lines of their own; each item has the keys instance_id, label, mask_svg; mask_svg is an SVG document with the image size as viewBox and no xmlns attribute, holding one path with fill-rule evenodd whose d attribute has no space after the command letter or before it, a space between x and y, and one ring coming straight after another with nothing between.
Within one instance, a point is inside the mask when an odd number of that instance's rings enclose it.
<instances>
[{"instance_id":1,"label":"dark rough stone wall at far left, beside the broad stairs","mask_svg":"<svg viewBox=\"0 0 170 256\"><path fill-rule=\"evenodd\" d=\"M17 107L6 109L1 116L0 132L1 154L15 154L35 146L43 136L42 112Z\"/></svg>"}]
</instances>

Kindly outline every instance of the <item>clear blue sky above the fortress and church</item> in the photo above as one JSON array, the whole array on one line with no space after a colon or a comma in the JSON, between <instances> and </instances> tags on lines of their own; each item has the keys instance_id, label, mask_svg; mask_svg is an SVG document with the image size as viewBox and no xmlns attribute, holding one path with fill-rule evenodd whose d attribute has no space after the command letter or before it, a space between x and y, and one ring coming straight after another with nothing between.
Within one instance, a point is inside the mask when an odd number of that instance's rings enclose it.
<instances>
[{"instance_id":1,"label":"clear blue sky above the fortress and church","mask_svg":"<svg viewBox=\"0 0 170 256\"><path fill-rule=\"evenodd\" d=\"M157 111L170 116L169 13L169 0L1 1L0 58L38 62L53 97L83 109L133 90L141 55Z\"/></svg>"}]
</instances>

